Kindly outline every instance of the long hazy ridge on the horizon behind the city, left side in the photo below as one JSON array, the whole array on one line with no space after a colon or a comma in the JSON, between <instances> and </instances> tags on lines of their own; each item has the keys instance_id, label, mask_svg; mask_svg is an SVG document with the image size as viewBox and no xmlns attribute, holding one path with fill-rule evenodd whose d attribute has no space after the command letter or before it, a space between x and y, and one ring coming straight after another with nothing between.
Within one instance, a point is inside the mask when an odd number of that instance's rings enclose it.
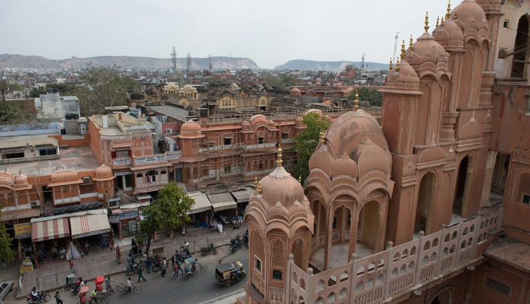
<instances>
[{"instance_id":1,"label":"long hazy ridge on the horizon behind the city, left side","mask_svg":"<svg viewBox=\"0 0 530 304\"><path fill-rule=\"evenodd\" d=\"M71 70L79 70L84 68L89 62L95 66L117 65L125 69L139 68L145 70L164 69L173 66L170 58L101 56L52 60L40 56L0 55L0 68L29 68L39 70L68 68ZM208 70L209 62L208 58L192 57L191 68L193 70ZM248 58L212 57L212 65L213 70L260 69L254 61ZM177 69L186 70L186 58L177 58Z\"/></svg>"}]
</instances>

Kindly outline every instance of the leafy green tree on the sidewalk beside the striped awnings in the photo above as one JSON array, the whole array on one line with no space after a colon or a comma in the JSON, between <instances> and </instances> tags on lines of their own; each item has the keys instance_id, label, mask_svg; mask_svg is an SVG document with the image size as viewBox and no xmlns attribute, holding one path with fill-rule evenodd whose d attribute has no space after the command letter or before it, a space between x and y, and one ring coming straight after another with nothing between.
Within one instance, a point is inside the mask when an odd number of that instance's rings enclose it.
<instances>
[{"instance_id":1,"label":"leafy green tree on the sidewalk beside the striped awnings","mask_svg":"<svg viewBox=\"0 0 530 304\"><path fill-rule=\"evenodd\" d=\"M186 211L190 210L193 204L195 200L186 195L184 189L177 184L164 185L164 189L158 192L151 205L142 210L145 220L140 222L140 227L144 236L140 238L147 239L146 252L149 252L155 231L164 229L173 235L173 230L191 220Z\"/></svg>"}]
</instances>

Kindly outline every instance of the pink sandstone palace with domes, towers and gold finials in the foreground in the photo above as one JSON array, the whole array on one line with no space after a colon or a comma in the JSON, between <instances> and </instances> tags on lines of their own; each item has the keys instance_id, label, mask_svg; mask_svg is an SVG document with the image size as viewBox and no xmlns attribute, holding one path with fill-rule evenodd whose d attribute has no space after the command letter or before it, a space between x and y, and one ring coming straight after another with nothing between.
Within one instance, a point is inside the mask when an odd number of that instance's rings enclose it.
<instances>
[{"instance_id":1,"label":"pink sandstone palace with domes, towers and gold finials in the foreground","mask_svg":"<svg viewBox=\"0 0 530 304\"><path fill-rule=\"evenodd\" d=\"M530 1L464 0L246 209L238 303L530 303ZM304 194L305 193L305 194Z\"/></svg>"}]
</instances>

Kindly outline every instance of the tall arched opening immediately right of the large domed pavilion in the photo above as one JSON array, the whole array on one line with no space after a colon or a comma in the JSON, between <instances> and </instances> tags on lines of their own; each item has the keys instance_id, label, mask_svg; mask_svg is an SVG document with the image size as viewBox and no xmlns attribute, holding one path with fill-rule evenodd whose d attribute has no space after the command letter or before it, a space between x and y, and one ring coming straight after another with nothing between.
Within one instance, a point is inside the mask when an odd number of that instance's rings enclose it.
<instances>
[{"instance_id":1,"label":"tall arched opening immediately right of the large domed pavilion","mask_svg":"<svg viewBox=\"0 0 530 304\"><path fill-rule=\"evenodd\" d=\"M416 204L415 234L418 234L420 230L423 230L425 234L431 233L433 206L436 201L436 184L438 184L438 177L434 173L429 171L423 175Z\"/></svg>"}]
</instances>

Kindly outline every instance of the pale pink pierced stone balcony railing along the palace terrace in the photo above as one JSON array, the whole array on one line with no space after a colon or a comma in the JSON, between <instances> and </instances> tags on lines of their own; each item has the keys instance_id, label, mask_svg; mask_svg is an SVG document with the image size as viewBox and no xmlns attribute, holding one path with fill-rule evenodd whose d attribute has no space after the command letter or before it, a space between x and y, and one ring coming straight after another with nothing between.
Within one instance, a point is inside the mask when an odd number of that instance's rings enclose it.
<instances>
[{"instance_id":1,"label":"pale pink pierced stone balcony railing along the palace terrace","mask_svg":"<svg viewBox=\"0 0 530 304\"><path fill-rule=\"evenodd\" d=\"M313 274L304 272L290 257L287 263L287 288L282 298L271 303L288 303L286 299L303 299L304 303L380 303L402 292L413 292L426 281L457 272L471 265L482 252L478 245L500 231L502 209L487 215L445 227L377 254L355 259L346 265ZM332 283L330 283L332 282ZM324 288L326 286L326 288ZM346 296L346 301L340 294ZM341 298L341 299L340 299Z\"/></svg>"}]
</instances>

